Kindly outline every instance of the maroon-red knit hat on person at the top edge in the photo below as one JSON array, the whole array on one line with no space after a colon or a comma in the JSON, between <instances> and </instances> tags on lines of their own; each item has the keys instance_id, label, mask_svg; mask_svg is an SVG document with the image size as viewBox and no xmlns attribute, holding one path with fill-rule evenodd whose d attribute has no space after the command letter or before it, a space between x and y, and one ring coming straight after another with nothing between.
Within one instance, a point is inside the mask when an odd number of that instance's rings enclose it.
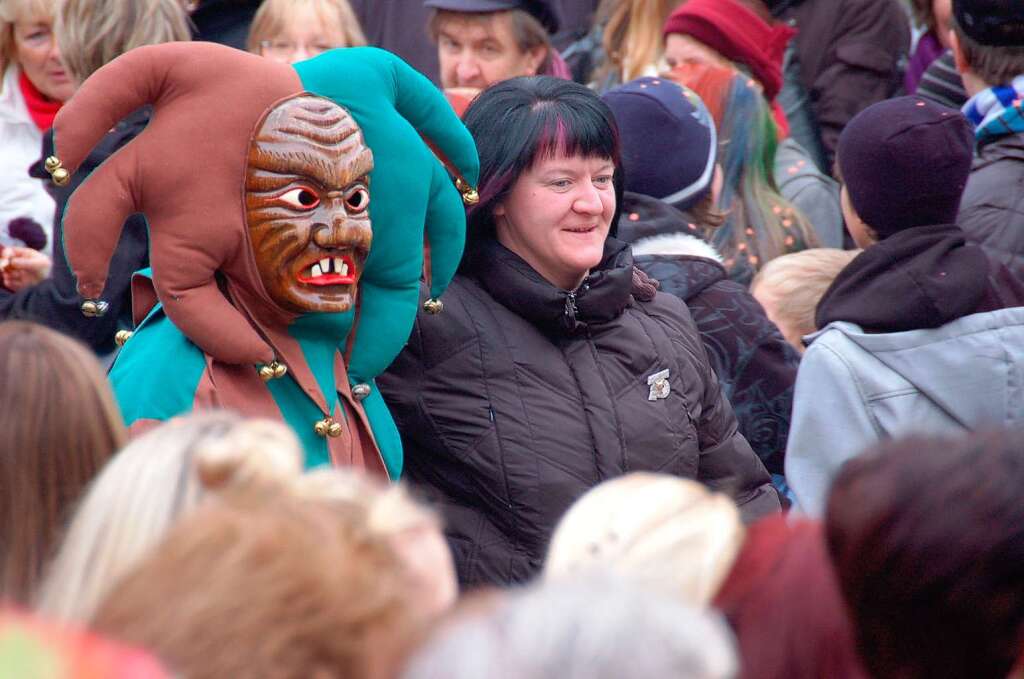
<instances>
[{"instance_id":1,"label":"maroon-red knit hat on person at the top edge","mask_svg":"<svg viewBox=\"0 0 1024 679\"><path fill-rule=\"evenodd\" d=\"M688 0L672 12L662 35L681 33L751 70L765 98L782 89L782 54L797 34L785 24L768 25L736 0Z\"/></svg>"}]
</instances>

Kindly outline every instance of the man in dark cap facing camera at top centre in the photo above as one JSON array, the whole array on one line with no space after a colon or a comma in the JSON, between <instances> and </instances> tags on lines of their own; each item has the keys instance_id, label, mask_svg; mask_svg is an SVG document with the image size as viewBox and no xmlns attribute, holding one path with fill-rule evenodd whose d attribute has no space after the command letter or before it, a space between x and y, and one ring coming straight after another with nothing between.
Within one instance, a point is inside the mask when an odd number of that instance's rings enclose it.
<instances>
[{"instance_id":1,"label":"man in dark cap facing camera at top centre","mask_svg":"<svg viewBox=\"0 0 1024 679\"><path fill-rule=\"evenodd\" d=\"M424 5L434 10L429 29L445 90L464 90L468 99L517 76L568 78L551 46L559 29L551 0L426 0Z\"/></svg>"}]
</instances>

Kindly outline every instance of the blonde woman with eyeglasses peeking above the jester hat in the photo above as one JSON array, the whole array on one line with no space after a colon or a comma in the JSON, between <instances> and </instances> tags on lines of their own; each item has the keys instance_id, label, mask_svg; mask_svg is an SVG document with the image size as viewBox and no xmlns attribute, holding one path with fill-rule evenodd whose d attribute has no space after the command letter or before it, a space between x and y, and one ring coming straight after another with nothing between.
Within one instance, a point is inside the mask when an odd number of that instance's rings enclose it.
<instances>
[{"instance_id":1,"label":"blonde woman with eyeglasses peeking above the jester hat","mask_svg":"<svg viewBox=\"0 0 1024 679\"><path fill-rule=\"evenodd\" d=\"M264 0L253 17L246 47L295 63L335 47L367 44L348 0Z\"/></svg>"}]
</instances>

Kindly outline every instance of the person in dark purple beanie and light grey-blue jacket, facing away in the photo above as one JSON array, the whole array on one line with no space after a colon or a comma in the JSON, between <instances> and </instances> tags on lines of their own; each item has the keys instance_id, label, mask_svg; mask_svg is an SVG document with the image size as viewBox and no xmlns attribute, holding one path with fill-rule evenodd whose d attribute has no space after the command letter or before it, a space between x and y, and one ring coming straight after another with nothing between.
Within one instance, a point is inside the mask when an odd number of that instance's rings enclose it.
<instances>
[{"instance_id":1,"label":"person in dark purple beanie and light grey-blue jacket, facing away","mask_svg":"<svg viewBox=\"0 0 1024 679\"><path fill-rule=\"evenodd\" d=\"M1024 285L955 223L973 145L959 113L916 96L840 136L843 213L864 251L818 303L797 373L785 477L809 514L884 438L1024 418Z\"/></svg>"}]
</instances>

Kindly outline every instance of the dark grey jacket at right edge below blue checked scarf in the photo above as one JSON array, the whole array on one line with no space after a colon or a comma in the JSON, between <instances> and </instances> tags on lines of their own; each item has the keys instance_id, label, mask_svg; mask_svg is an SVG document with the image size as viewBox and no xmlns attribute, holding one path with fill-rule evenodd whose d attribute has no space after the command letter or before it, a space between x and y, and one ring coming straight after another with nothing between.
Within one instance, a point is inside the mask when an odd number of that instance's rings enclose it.
<instances>
[{"instance_id":1,"label":"dark grey jacket at right edge below blue checked scarf","mask_svg":"<svg viewBox=\"0 0 1024 679\"><path fill-rule=\"evenodd\" d=\"M978 151L956 223L1024 281L1024 135L1011 134Z\"/></svg>"}]
</instances>

